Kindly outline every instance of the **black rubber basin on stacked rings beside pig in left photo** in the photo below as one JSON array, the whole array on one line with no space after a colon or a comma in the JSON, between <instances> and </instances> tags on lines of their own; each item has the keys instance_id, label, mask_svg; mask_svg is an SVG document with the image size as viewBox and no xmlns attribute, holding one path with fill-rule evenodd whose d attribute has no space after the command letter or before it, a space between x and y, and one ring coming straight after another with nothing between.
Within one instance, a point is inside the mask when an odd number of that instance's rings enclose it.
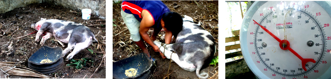
<instances>
[{"instance_id":1,"label":"black rubber basin on stacked rings beside pig in left photo","mask_svg":"<svg viewBox=\"0 0 331 79\"><path fill-rule=\"evenodd\" d=\"M40 63L44 59L49 59L51 63ZM62 48L61 47L49 47L49 46L42 46L39 48L35 53L31 55L28 59L28 63L34 65L50 65L58 62L62 59Z\"/></svg>"}]
</instances>

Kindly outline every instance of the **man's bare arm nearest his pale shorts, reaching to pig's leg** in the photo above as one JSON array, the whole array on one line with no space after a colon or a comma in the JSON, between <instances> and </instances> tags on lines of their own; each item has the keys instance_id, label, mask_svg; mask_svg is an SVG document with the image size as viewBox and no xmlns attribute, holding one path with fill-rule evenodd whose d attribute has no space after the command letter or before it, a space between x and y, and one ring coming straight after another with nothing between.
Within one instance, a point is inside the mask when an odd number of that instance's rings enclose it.
<instances>
[{"instance_id":1,"label":"man's bare arm nearest his pale shorts, reaching to pig's leg","mask_svg":"<svg viewBox=\"0 0 331 79\"><path fill-rule=\"evenodd\" d=\"M159 47L153 43L152 39L147 34L147 31L149 30L149 28L154 25L154 18L146 10L143 10L141 12L141 16L142 16L142 20L140 22L139 34L149 45L151 45L153 47L155 52L161 53Z\"/></svg>"}]
</instances>

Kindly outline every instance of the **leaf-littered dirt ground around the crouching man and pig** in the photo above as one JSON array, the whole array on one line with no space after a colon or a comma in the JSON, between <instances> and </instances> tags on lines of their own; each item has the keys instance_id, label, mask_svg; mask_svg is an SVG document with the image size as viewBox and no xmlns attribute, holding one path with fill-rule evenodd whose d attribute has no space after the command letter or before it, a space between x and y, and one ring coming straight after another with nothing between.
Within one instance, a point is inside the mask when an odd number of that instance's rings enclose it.
<instances>
[{"instance_id":1,"label":"leaf-littered dirt ground around the crouching man and pig","mask_svg":"<svg viewBox=\"0 0 331 79\"><path fill-rule=\"evenodd\" d=\"M181 15L192 17L195 23L202 22L200 25L205 30L209 31L216 42L218 50L218 1L163 1L172 12L177 12ZM130 33L123 22L120 15L120 4L113 5L113 62L131 57L135 54L143 53L142 50L131 40ZM177 6L179 5L179 6ZM176 7L177 6L177 7ZM115 25L114 25L115 24ZM148 34L151 35L151 28ZM165 31L161 31L159 35L164 35ZM157 37L159 39L159 37ZM156 59L157 67L152 69L152 79L162 79L167 75L169 68L169 59L162 59L159 53L155 53L150 45L145 43L153 58ZM216 51L218 52L218 51ZM215 54L218 56L218 53ZM209 76L213 76L215 71L218 72L218 65L209 65L200 72L208 72ZM173 73L171 73L173 72ZM171 62L169 69L170 79L196 79L196 72L189 72L180 68L175 62Z\"/></svg>"}]
</instances>

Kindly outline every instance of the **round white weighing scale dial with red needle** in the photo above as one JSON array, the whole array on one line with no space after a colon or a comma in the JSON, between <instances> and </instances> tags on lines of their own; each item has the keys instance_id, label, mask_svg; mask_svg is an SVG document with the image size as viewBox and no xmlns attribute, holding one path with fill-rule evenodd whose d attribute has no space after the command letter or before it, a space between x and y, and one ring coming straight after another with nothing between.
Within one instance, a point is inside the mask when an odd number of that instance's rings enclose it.
<instances>
[{"instance_id":1,"label":"round white weighing scale dial with red needle","mask_svg":"<svg viewBox=\"0 0 331 79\"><path fill-rule=\"evenodd\" d=\"M243 56L255 75L262 79L330 78L331 17L326 10L331 9L314 1L258 4L250 12L253 16L244 18L246 26L240 34Z\"/></svg>"}]
</instances>

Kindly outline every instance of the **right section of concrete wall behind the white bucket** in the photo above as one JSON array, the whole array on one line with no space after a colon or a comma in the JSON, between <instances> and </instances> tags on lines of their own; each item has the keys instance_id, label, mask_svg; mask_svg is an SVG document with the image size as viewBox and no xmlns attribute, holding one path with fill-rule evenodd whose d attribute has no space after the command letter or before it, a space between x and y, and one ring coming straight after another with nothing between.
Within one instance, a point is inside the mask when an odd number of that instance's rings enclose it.
<instances>
[{"instance_id":1,"label":"right section of concrete wall behind the white bucket","mask_svg":"<svg viewBox=\"0 0 331 79\"><path fill-rule=\"evenodd\" d=\"M106 0L43 0L43 2L73 10L91 9L92 14L106 18Z\"/></svg>"}]
</instances>

